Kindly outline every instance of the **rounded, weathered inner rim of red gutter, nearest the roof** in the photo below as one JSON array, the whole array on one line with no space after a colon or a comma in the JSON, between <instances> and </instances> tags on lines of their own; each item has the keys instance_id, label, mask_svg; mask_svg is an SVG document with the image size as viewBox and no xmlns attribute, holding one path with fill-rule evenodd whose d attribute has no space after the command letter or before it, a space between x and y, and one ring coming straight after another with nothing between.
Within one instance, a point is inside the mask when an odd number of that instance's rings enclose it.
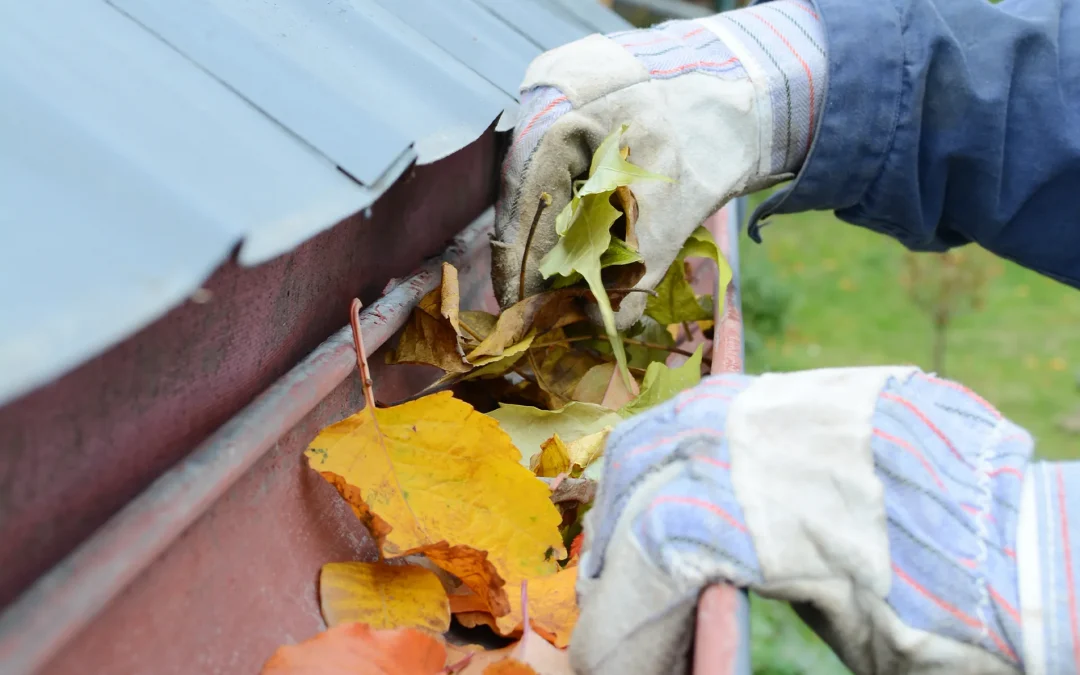
<instances>
[{"instance_id":1,"label":"rounded, weathered inner rim of red gutter, nearest the roof","mask_svg":"<svg viewBox=\"0 0 1080 675\"><path fill-rule=\"evenodd\" d=\"M492 222L488 208L442 258L363 311L361 327L370 351L435 288L442 261L460 266L487 244ZM342 320L347 310L341 308ZM0 615L4 675L35 673L58 653L355 367L352 330L345 326L38 579Z\"/></svg>"}]
</instances>

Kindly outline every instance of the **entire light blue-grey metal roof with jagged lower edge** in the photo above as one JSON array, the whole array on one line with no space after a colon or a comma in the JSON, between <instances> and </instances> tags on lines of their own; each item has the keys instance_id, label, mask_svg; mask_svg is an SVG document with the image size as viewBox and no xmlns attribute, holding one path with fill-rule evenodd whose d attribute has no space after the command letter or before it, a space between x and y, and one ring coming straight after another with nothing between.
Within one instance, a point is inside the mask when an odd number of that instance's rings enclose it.
<instances>
[{"instance_id":1,"label":"entire light blue-grey metal roof with jagged lower edge","mask_svg":"<svg viewBox=\"0 0 1080 675\"><path fill-rule=\"evenodd\" d=\"M593 0L0 6L0 404L369 205L513 110ZM505 126L505 119L500 126Z\"/></svg>"}]
</instances>

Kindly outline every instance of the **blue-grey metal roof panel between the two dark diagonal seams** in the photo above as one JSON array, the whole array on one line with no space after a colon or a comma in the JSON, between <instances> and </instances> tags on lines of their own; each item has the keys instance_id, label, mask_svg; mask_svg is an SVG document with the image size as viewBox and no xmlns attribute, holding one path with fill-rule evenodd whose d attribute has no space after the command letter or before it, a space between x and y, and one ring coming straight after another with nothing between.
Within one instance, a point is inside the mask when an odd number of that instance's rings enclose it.
<instances>
[{"instance_id":1,"label":"blue-grey metal roof panel between the two dark diagonal seams","mask_svg":"<svg viewBox=\"0 0 1080 675\"><path fill-rule=\"evenodd\" d=\"M464 147L509 103L374 0L109 2L365 184L409 140L421 163Z\"/></svg>"}]
</instances>

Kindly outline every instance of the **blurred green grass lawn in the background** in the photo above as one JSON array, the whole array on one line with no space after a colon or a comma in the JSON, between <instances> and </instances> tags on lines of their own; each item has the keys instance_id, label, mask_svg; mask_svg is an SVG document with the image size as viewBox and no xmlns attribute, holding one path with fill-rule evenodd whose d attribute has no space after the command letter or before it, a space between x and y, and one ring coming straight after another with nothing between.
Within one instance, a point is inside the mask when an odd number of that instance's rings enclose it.
<instances>
[{"instance_id":1,"label":"blurred green grass lawn in the background","mask_svg":"<svg viewBox=\"0 0 1080 675\"><path fill-rule=\"evenodd\" d=\"M774 217L762 238L740 242L743 269L775 274L794 301L783 336L751 354L747 370L931 369L930 320L900 281L903 246L827 213ZM1080 458L1080 437L1058 423L1080 411L1080 292L1011 262L1000 269L984 309L956 320L946 375L1030 431L1041 457ZM752 621L757 675L848 672L786 605L755 597Z\"/></svg>"}]
</instances>

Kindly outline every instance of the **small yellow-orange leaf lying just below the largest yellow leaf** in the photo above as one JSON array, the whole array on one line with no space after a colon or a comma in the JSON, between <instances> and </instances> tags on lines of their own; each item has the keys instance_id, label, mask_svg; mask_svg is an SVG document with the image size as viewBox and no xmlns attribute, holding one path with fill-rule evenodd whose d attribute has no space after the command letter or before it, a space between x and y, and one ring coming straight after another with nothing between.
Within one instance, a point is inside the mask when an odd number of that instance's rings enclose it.
<instances>
[{"instance_id":1,"label":"small yellow-orange leaf lying just below the largest yellow leaf","mask_svg":"<svg viewBox=\"0 0 1080 675\"><path fill-rule=\"evenodd\" d=\"M328 563L319 576L326 625L366 623L374 629L450 627L450 604L434 572L414 565Z\"/></svg>"}]
</instances>

